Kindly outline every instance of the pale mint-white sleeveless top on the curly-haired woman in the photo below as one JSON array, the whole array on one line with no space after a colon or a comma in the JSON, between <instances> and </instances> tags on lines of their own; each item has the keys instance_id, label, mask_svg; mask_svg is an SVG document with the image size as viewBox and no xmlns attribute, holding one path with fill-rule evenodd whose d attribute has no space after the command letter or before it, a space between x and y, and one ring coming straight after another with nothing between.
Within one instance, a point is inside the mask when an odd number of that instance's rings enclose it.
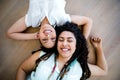
<instances>
[{"instance_id":1,"label":"pale mint-white sleeveless top on the curly-haired woman","mask_svg":"<svg viewBox=\"0 0 120 80\"><path fill-rule=\"evenodd\" d=\"M45 54L41 52L40 54ZM41 55L40 55L41 56ZM50 56L46 61L41 61L36 68L36 72L32 72L31 75L27 78L27 80L48 80L48 76L51 73L51 70L54 67L54 54ZM60 73L58 69L58 64L56 65L55 71L50 77L49 80L56 80ZM82 76L82 69L78 61L75 61L71 66L70 70L64 75L62 80L80 80Z\"/></svg>"}]
</instances>

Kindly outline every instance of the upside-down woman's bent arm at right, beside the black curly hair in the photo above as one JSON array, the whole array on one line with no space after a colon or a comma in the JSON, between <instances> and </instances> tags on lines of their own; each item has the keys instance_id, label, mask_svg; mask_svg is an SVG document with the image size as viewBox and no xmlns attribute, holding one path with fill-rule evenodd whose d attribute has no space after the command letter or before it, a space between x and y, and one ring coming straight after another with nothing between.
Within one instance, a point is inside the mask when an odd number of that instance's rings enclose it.
<instances>
[{"instance_id":1,"label":"upside-down woman's bent arm at right, beside the black curly hair","mask_svg":"<svg viewBox=\"0 0 120 80\"><path fill-rule=\"evenodd\" d=\"M83 35L87 39L92 28L92 19L85 16L71 15L71 21L78 26L83 25Z\"/></svg>"}]
</instances>

